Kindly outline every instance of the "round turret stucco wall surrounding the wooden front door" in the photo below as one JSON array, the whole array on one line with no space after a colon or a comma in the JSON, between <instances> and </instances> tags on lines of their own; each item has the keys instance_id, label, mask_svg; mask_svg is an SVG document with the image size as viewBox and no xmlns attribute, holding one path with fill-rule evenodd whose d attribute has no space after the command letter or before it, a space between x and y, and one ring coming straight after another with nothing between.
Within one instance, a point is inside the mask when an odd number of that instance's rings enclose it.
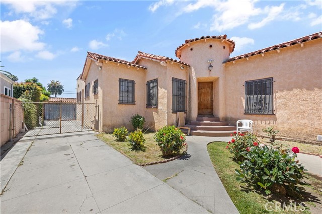
<instances>
[{"instance_id":1,"label":"round turret stucco wall surrounding the wooden front door","mask_svg":"<svg viewBox=\"0 0 322 214\"><path fill-rule=\"evenodd\" d=\"M210 47L212 45L212 47ZM229 59L231 43L222 39L206 39L192 42L181 49L180 60L188 63L191 82L191 120L198 115L198 82L214 82L214 115L225 119L225 75L223 61ZM192 49L192 50L191 50ZM208 60L213 59L212 71L208 70Z\"/></svg>"}]
</instances>

